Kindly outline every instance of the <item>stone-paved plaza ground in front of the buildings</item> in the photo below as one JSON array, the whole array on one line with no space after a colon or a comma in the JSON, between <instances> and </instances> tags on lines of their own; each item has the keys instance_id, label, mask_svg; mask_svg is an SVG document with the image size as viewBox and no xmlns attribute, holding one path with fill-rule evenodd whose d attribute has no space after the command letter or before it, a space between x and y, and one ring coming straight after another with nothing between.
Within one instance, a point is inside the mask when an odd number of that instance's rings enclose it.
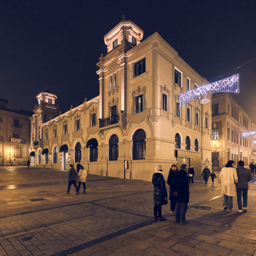
<instances>
[{"instance_id":1,"label":"stone-paved plaza ground in front of the buildings","mask_svg":"<svg viewBox=\"0 0 256 256\"><path fill-rule=\"evenodd\" d=\"M248 212L236 213L234 198L234 211L226 214L219 179L204 184L196 177L190 186L190 224L180 225L174 217L152 223L150 182L89 175L87 194L71 190L66 195L65 171L7 168L0 167L0 256L255 253L254 184ZM198 204L213 210L197 210ZM164 216L169 207L163 206Z\"/></svg>"}]
</instances>

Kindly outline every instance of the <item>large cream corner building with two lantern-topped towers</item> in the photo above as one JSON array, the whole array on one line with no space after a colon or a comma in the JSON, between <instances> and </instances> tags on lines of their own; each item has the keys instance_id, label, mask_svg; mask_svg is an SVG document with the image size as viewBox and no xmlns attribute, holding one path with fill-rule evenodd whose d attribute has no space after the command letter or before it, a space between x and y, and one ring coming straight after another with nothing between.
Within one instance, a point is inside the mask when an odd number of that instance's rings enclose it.
<instances>
[{"instance_id":1,"label":"large cream corner building with two lantern-topped towers","mask_svg":"<svg viewBox=\"0 0 256 256\"><path fill-rule=\"evenodd\" d=\"M177 100L207 80L158 33L142 38L131 21L104 36L108 53L97 63L97 97L62 114L56 95L37 95L31 118L36 165L66 169L81 161L90 174L144 181L151 181L157 164L165 177L171 164L192 164L196 174L211 165L211 105L197 99L179 108ZM43 121L49 109L56 115Z\"/></svg>"}]
</instances>

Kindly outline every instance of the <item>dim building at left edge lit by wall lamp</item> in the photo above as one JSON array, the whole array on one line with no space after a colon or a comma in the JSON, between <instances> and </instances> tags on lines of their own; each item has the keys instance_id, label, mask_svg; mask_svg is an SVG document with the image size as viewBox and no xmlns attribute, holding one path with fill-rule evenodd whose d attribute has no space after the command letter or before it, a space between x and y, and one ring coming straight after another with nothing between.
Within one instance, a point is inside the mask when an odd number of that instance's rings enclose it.
<instances>
[{"instance_id":1,"label":"dim building at left edge lit by wall lamp","mask_svg":"<svg viewBox=\"0 0 256 256\"><path fill-rule=\"evenodd\" d=\"M6 108L0 98L0 166L25 165L29 159L31 112Z\"/></svg>"}]
</instances>

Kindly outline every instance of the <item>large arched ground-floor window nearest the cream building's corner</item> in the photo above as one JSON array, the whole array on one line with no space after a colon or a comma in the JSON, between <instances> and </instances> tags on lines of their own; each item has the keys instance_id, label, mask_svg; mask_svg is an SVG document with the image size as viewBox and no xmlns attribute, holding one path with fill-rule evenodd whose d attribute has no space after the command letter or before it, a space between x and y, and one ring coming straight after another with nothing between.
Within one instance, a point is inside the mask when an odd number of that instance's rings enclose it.
<instances>
[{"instance_id":1,"label":"large arched ground-floor window nearest the cream building's corner","mask_svg":"<svg viewBox=\"0 0 256 256\"><path fill-rule=\"evenodd\" d=\"M132 138L132 159L145 159L146 155L146 133L142 129L135 131Z\"/></svg>"}]
</instances>

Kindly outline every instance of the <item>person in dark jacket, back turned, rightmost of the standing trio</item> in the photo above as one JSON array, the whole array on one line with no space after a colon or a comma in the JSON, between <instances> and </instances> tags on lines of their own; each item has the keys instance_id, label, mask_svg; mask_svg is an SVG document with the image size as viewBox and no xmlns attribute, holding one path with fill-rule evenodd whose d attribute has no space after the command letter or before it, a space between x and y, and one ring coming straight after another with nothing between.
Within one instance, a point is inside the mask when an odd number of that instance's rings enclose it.
<instances>
[{"instance_id":1,"label":"person in dark jacket, back turned, rightmost of the standing trio","mask_svg":"<svg viewBox=\"0 0 256 256\"><path fill-rule=\"evenodd\" d=\"M189 184L188 184L188 166L187 164L181 164L181 170L174 177L176 196L176 213L175 222L181 222L181 224L188 224L186 221L187 203L189 202Z\"/></svg>"}]
</instances>

